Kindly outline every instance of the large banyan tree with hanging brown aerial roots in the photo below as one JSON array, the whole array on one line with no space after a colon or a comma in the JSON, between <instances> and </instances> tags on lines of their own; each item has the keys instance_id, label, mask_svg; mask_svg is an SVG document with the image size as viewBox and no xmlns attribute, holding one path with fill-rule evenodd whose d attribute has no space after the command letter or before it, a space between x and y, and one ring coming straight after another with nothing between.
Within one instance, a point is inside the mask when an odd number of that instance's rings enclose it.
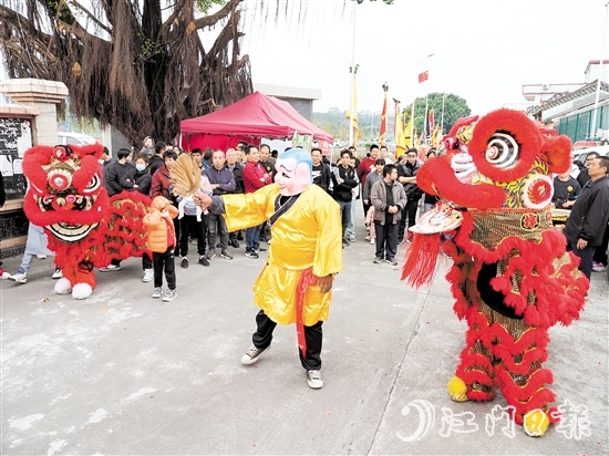
<instances>
[{"instance_id":1,"label":"large banyan tree with hanging brown aerial roots","mask_svg":"<svg viewBox=\"0 0 609 456\"><path fill-rule=\"evenodd\" d=\"M0 0L6 70L62 81L78 118L111 124L134 145L169 139L180 120L251 93L242 1ZM221 8L202 14L211 3Z\"/></svg>"}]
</instances>

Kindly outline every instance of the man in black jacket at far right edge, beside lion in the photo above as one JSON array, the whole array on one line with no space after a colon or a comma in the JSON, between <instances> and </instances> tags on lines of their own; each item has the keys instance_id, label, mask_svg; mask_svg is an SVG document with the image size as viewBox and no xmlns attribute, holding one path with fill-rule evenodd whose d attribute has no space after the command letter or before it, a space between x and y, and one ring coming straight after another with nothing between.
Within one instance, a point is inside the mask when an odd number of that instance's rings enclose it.
<instances>
[{"instance_id":1,"label":"man in black jacket at far right edge, beside lion","mask_svg":"<svg viewBox=\"0 0 609 456\"><path fill-rule=\"evenodd\" d=\"M595 248L601 245L609 219L609 157L591 159L588 174L590 180L572 206L565 236L574 253L580 258L579 270L589 279Z\"/></svg>"}]
</instances>

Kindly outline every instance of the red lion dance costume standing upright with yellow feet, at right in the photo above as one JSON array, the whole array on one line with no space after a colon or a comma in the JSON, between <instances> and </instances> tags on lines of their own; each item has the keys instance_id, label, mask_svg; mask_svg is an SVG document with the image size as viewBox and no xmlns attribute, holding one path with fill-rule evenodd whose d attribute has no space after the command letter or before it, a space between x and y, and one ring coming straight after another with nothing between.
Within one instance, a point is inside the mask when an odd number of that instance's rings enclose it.
<instances>
[{"instance_id":1,"label":"red lion dance costume standing upright with yellow feet, at right","mask_svg":"<svg viewBox=\"0 0 609 456\"><path fill-rule=\"evenodd\" d=\"M589 286L549 211L549 174L570 167L571 145L566 136L544 135L519 112L498 110L476 121L460 120L444 155L416 177L463 217L444 243L454 261L446 276L454 311L468 324L448 392L457 402L491 401L497 386L516 423L540 436L559 418L548 405L556 396L546 386L553 374L543 367L548 329L579 318ZM403 278L413 286L431 279L438 247L440 235L415 235Z\"/></svg>"}]
</instances>

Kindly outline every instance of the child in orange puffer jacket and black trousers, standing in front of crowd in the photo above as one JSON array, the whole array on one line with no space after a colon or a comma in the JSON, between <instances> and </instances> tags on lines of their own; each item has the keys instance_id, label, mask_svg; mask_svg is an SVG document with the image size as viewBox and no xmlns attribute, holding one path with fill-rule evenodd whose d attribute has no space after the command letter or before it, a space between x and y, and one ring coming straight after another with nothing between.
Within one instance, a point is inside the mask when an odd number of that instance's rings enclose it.
<instances>
[{"instance_id":1,"label":"child in orange puffer jacket and black trousers, standing in front of crowd","mask_svg":"<svg viewBox=\"0 0 609 456\"><path fill-rule=\"evenodd\" d=\"M148 230L148 248L153 251L154 292L153 298L163 294L163 271L167 280L167 291L163 301L169 302L177 298L175 255L175 228L172 219L177 217L177 209L172 201L157 196L152 201L148 214L144 216L144 225Z\"/></svg>"}]
</instances>

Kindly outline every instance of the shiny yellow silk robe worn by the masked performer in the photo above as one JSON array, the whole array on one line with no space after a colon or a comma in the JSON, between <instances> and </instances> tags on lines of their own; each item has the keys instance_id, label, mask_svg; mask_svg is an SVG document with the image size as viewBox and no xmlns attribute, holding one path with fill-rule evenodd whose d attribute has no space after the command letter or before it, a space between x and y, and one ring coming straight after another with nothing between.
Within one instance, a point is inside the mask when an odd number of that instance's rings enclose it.
<instances>
[{"instance_id":1,"label":"shiny yellow silk robe worn by the masked performer","mask_svg":"<svg viewBox=\"0 0 609 456\"><path fill-rule=\"evenodd\" d=\"M277 184L246 195L223 196L229 231L255 227L275 214ZM255 303L276 323L296 322L296 288L302 270L317 277L342 270L342 226L339 205L317 185L311 185L271 228L268 262L254 284ZM331 292L317 284L304 293L303 323L326 321Z\"/></svg>"}]
</instances>

